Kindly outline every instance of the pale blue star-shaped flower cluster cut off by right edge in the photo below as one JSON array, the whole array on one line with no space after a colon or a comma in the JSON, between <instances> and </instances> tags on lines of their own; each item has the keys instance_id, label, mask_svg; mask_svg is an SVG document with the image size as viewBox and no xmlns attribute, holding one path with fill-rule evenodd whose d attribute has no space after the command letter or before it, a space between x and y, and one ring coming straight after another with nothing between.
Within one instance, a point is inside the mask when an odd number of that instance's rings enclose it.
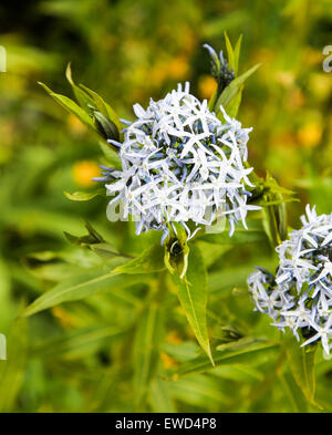
<instances>
[{"instance_id":1,"label":"pale blue star-shaped flower cluster cut off by right edge","mask_svg":"<svg viewBox=\"0 0 332 435\"><path fill-rule=\"evenodd\" d=\"M302 228L277 247L276 277L264 269L250 275L248 286L256 307L284 331L289 328L302 345L321 340L332 348L332 214L317 215L307 206Z\"/></svg>"}]
</instances>

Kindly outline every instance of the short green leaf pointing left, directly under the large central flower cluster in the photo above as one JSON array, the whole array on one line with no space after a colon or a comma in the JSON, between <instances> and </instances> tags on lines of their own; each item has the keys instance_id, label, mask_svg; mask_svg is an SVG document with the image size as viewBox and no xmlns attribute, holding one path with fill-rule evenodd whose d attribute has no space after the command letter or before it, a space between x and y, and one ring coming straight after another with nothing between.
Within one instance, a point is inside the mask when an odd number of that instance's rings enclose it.
<instances>
[{"instance_id":1,"label":"short green leaf pointing left, directly under the large central flower cluster","mask_svg":"<svg viewBox=\"0 0 332 435\"><path fill-rule=\"evenodd\" d=\"M115 268L112 275L155 273L165 270L165 268L164 248L156 244L145 249L141 256Z\"/></svg>"}]
</instances>

